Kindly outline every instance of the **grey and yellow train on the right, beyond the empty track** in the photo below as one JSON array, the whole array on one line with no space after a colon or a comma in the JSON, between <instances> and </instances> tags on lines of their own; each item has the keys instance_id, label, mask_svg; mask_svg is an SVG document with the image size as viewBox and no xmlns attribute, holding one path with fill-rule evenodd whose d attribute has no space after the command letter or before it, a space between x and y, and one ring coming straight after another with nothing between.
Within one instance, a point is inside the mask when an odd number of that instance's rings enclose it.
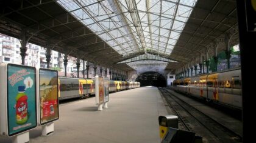
<instances>
[{"instance_id":1,"label":"grey and yellow train on the right, beyond the empty track","mask_svg":"<svg viewBox=\"0 0 256 143\"><path fill-rule=\"evenodd\" d=\"M176 79L174 90L213 101L216 104L242 108L241 69L226 70Z\"/></svg>"}]
</instances>

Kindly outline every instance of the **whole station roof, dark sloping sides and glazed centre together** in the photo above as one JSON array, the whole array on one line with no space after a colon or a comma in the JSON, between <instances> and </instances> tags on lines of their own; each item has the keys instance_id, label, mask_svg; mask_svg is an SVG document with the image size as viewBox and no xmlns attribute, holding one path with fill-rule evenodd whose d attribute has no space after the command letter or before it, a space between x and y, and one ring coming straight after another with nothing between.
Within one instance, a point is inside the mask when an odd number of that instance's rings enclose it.
<instances>
[{"instance_id":1,"label":"whole station roof, dark sloping sides and glazed centre together","mask_svg":"<svg viewBox=\"0 0 256 143\"><path fill-rule=\"evenodd\" d=\"M152 60L175 70L230 30L238 33L232 0L27 0L1 8L1 33L20 38L26 29L29 42L50 41L58 52L69 48L71 56L126 71L134 70L128 62Z\"/></svg>"}]
</instances>

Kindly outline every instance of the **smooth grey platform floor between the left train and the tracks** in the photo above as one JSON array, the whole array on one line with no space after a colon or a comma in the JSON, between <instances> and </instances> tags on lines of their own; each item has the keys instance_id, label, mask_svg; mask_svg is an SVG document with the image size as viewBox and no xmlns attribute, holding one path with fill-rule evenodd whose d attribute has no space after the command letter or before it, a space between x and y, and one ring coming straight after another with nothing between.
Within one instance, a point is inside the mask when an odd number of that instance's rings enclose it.
<instances>
[{"instance_id":1,"label":"smooth grey platform floor between the left train and the tracks","mask_svg":"<svg viewBox=\"0 0 256 143\"><path fill-rule=\"evenodd\" d=\"M30 142L160 142L158 116L168 115L156 87L140 87L110 94L108 108L98 111L95 98L60 104L54 134L30 130ZM0 138L12 142L12 138Z\"/></svg>"}]
</instances>

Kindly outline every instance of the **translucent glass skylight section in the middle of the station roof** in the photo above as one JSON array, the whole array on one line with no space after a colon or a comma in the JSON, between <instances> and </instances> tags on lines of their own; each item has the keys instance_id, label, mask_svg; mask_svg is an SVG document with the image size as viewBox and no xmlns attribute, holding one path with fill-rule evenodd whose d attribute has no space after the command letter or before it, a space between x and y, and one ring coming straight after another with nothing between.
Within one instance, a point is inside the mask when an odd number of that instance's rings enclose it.
<instances>
[{"instance_id":1,"label":"translucent glass skylight section in the middle of the station roof","mask_svg":"<svg viewBox=\"0 0 256 143\"><path fill-rule=\"evenodd\" d=\"M59 0L120 55L168 57L197 0Z\"/></svg>"}]
</instances>

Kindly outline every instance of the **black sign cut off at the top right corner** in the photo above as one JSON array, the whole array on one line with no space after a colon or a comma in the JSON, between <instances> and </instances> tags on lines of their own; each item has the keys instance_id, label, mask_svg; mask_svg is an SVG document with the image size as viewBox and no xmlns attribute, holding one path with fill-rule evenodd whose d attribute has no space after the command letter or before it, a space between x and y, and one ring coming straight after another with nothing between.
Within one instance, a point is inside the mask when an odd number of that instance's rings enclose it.
<instances>
[{"instance_id":1,"label":"black sign cut off at the top right corner","mask_svg":"<svg viewBox=\"0 0 256 143\"><path fill-rule=\"evenodd\" d=\"M246 0L246 25L248 32L256 32L256 0Z\"/></svg>"}]
</instances>

